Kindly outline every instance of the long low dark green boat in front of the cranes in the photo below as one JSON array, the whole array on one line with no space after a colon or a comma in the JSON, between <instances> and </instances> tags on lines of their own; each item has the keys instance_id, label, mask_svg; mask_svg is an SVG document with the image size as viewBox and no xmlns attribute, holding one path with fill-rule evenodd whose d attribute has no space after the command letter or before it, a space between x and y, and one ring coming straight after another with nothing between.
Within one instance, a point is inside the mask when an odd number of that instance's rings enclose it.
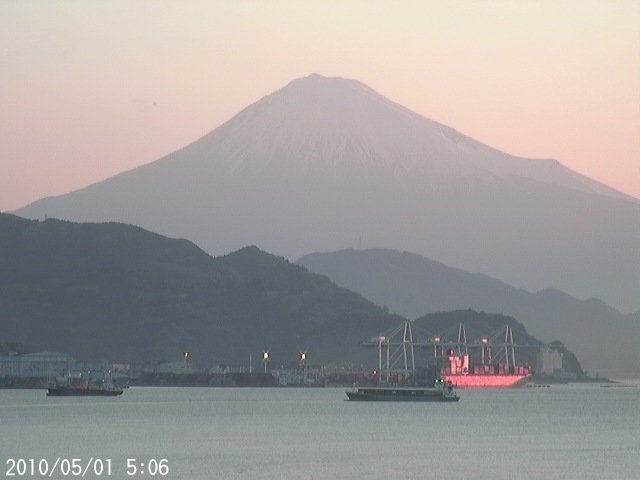
<instances>
[{"instance_id":1,"label":"long low dark green boat in front of the cranes","mask_svg":"<svg viewBox=\"0 0 640 480\"><path fill-rule=\"evenodd\" d=\"M436 380L433 387L378 385L354 387L345 392L349 400L360 402L457 402L460 397L451 382Z\"/></svg>"}]
</instances>

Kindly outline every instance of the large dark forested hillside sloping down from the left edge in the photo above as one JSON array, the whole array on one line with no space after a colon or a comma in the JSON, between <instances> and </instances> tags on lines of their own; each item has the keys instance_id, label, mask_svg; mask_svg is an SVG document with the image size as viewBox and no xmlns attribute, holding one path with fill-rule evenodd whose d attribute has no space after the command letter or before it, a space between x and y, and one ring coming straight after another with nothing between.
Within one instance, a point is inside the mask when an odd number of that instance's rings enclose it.
<instances>
[{"instance_id":1,"label":"large dark forested hillside sloping down from the left edge","mask_svg":"<svg viewBox=\"0 0 640 480\"><path fill-rule=\"evenodd\" d=\"M402 319L283 258L213 258L186 240L116 224L0 214L0 342L79 360L201 366L348 361Z\"/></svg>"}]
</instances>

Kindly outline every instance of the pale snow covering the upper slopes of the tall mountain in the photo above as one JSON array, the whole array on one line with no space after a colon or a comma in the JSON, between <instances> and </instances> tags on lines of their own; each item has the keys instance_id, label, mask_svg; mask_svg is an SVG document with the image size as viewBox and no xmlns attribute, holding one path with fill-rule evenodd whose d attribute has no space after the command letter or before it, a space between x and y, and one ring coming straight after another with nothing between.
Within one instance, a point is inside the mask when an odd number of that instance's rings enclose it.
<instances>
[{"instance_id":1,"label":"pale snow covering the upper slopes of the tall mountain","mask_svg":"<svg viewBox=\"0 0 640 480\"><path fill-rule=\"evenodd\" d=\"M246 138L251 143L246 143ZM514 157L422 117L364 84L320 75L292 81L249 106L193 145L201 162L221 162L227 174L264 164L341 167L363 174L386 169L400 183L432 179L525 178L623 198L555 160Z\"/></svg>"}]
</instances>

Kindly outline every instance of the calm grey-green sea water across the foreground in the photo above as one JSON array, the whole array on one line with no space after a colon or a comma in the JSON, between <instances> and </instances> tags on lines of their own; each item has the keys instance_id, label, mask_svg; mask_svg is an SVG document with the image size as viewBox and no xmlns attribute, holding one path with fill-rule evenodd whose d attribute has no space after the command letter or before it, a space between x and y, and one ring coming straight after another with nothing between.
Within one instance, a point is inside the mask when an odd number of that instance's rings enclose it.
<instances>
[{"instance_id":1,"label":"calm grey-green sea water across the foreground","mask_svg":"<svg viewBox=\"0 0 640 480\"><path fill-rule=\"evenodd\" d=\"M640 478L639 388L459 393L456 404L378 404L344 401L338 388L0 390L1 473L44 478L40 460L51 469L60 458L48 478L81 478L60 471L77 458L93 459L91 479ZM24 475L8 472L19 459Z\"/></svg>"}]
</instances>

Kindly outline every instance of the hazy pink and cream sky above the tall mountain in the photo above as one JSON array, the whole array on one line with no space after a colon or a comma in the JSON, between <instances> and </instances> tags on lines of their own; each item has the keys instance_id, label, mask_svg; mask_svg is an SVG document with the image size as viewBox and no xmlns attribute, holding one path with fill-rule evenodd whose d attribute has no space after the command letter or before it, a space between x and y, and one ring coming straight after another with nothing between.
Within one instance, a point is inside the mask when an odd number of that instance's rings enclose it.
<instances>
[{"instance_id":1,"label":"hazy pink and cream sky above the tall mountain","mask_svg":"<svg viewBox=\"0 0 640 480\"><path fill-rule=\"evenodd\" d=\"M0 0L0 211L311 73L640 197L640 0Z\"/></svg>"}]
</instances>

